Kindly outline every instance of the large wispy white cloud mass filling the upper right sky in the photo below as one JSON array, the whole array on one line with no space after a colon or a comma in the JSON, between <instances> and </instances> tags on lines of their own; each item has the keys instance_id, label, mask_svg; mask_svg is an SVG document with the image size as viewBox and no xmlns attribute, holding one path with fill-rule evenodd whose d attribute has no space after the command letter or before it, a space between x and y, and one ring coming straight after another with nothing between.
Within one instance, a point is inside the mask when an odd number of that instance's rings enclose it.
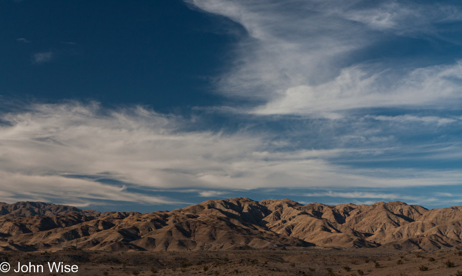
<instances>
[{"instance_id":1,"label":"large wispy white cloud mass filling the upper right sky","mask_svg":"<svg viewBox=\"0 0 462 276\"><path fill-rule=\"evenodd\" d=\"M264 102L246 110L250 113L335 119L359 108L460 106L460 62L417 67L415 60L404 63L393 56L360 62L352 57L358 51L386 51L380 42L391 36L446 39L447 30L436 25L461 21L458 7L397 1L366 6L340 0L188 2L249 32L234 50L228 73L217 79L217 89Z\"/></svg>"}]
</instances>

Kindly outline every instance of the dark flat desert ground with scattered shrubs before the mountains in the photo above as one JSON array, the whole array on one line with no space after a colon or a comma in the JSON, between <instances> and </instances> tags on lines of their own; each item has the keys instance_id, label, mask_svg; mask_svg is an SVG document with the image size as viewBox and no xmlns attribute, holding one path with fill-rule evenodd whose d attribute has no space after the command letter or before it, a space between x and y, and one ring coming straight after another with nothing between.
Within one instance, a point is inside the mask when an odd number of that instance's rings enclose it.
<instances>
[{"instance_id":1,"label":"dark flat desert ground with scattered shrubs before the mountains","mask_svg":"<svg viewBox=\"0 0 462 276\"><path fill-rule=\"evenodd\" d=\"M374 249L306 248L227 252L0 252L11 270L1 275L76 276L462 276L462 252L406 252ZM76 273L50 273L47 262L78 265ZM18 272L21 265L42 264L44 273ZM458 270L461 271L458 274Z\"/></svg>"}]
</instances>

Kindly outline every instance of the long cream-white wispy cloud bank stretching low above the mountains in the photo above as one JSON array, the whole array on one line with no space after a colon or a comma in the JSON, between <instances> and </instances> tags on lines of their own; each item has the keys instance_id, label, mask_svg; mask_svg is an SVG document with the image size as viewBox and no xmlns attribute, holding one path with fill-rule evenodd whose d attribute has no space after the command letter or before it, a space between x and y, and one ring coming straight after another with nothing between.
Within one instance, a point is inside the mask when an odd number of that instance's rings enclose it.
<instances>
[{"instance_id":1,"label":"long cream-white wispy cloud bank stretching low above the mountains","mask_svg":"<svg viewBox=\"0 0 462 276\"><path fill-rule=\"evenodd\" d=\"M24 108L0 117L6 123L0 126L0 200L7 202L175 202L71 175L100 176L144 190L186 188L204 197L230 189L281 186L460 184L462 176L460 170L378 170L329 161L353 156L375 160L383 152L402 153L399 147L284 149L287 144L272 141L267 132L184 131L194 122L141 107L107 110L95 103L72 102ZM423 152L420 147L405 149Z\"/></svg>"}]
</instances>

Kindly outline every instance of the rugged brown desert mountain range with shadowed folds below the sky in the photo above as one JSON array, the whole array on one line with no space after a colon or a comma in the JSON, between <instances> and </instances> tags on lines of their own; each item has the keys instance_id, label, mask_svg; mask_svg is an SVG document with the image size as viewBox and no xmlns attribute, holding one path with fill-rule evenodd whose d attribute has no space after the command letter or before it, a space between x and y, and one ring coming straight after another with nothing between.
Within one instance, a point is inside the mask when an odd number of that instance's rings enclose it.
<instances>
[{"instance_id":1,"label":"rugged brown desert mountain range with shadowed folds below the sky","mask_svg":"<svg viewBox=\"0 0 462 276\"><path fill-rule=\"evenodd\" d=\"M43 202L0 203L0 251L110 251L379 247L462 248L462 206L428 210L289 199L210 200L152 213L82 210Z\"/></svg>"}]
</instances>

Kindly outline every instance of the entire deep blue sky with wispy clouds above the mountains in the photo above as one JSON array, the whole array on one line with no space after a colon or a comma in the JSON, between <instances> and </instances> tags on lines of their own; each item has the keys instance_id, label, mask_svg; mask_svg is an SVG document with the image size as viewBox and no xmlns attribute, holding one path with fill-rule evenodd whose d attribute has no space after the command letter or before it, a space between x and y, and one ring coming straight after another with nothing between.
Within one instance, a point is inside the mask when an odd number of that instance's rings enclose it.
<instances>
[{"instance_id":1,"label":"entire deep blue sky with wispy clouds above the mountains","mask_svg":"<svg viewBox=\"0 0 462 276\"><path fill-rule=\"evenodd\" d=\"M0 201L462 202L458 1L0 2Z\"/></svg>"}]
</instances>

